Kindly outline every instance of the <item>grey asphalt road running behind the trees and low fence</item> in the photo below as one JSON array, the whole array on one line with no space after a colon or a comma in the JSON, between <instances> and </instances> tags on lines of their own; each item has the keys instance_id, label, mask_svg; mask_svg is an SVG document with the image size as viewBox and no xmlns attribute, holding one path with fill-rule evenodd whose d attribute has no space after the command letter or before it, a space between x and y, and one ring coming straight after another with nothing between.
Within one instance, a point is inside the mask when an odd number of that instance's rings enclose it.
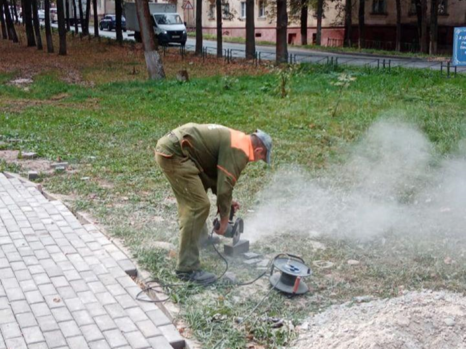
<instances>
[{"instance_id":1,"label":"grey asphalt road running behind the trees and low fence","mask_svg":"<svg viewBox=\"0 0 466 349\"><path fill-rule=\"evenodd\" d=\"M57 24L53 24L54 27L57 27ZM80 27L81 31L81 27ZM91 35L94 34L94 27L89 28ZM100 36L115 38L116 33L114 31L99 31ZM123 38L126 40L134 40L133 32L127 31L123 33ZM186 50L194 50L196 45L196 40L194 38L188 37L186 42ZM209 54L216 54L216 41L204 40L203 46L207 48ZM244 44L235 44L235 43L223 43L223 50L231 50L231 57L234 58L244 58L245 57L245 45ZM258 57L261 61L274 61L275 60L275 47L273 46L256 46L256 51L258 52ZM439 62L429 62L426 60L418 58L393 58L387 56L377 56L377 55L364 55L364 54L346 54L346 53L333 53L333 52L323 52L312 49L302 49L302 48L293 48L288 47L288 55L290 60L293 63L326 63L333 62L338 64L347 64L355 66L370 66L370 67L383 67L386 68L402 66L405 68L418 68L418 69L434 69L440 70L443 69L445 72L447 70L445 63ZM450 67L451 72L454 71L454 67ZM466 67L458 67L458 72L466 72Z\"/></svg>"}]
</instances>

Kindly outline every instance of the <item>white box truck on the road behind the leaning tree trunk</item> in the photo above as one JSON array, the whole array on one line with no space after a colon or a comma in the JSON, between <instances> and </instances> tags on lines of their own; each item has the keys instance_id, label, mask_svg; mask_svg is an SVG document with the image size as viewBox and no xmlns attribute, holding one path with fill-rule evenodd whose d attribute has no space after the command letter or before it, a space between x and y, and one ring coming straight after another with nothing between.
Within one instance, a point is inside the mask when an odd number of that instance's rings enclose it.
<instances>
[{"instance_id":1,"label":"white box truck on the road behind the leaning tree trunk","mask_svg":"<svg viewBox=\"0 0 466 349\"><path fill-rule=\"evenodd\" d=\"M176 4L149 3L149 12L159 45L178 43L184 46L187 40L186 26L181 16L176 13ZM134 31L134 40L141 42L141 31L136 15L136 4L125 3L126 29Z\"/></svg>"}]
</instances>

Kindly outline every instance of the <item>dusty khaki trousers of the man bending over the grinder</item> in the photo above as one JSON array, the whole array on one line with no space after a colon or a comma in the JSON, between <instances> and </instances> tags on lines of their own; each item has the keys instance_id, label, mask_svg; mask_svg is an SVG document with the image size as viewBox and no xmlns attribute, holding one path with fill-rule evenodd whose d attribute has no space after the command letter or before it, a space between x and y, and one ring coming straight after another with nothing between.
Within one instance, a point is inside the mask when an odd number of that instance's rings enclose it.
<instances>
[{"instance_id":1,"label":"dusty khaki trousers of the man bending over the grinder","mask_svg":"<svg viewBox=\"0 0 466 349\"><path fill-rule=\"evenodd\" d=\"M199 240L205 234L205 222L209 216L210 201L199 177L199 170L190 159L156 155L171 184L178 202L180 221L180 248L176 269L192 271L200 269Z\"/></svg>"}]
</instances>

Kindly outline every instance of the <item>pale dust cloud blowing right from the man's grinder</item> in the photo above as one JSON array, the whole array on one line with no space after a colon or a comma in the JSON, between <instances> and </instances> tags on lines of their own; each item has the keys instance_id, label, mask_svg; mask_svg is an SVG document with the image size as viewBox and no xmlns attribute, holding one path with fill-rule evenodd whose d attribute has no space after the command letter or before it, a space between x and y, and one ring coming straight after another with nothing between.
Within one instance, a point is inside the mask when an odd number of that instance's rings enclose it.
<instances>
[{"instance_id":1,"label":"pale dust cloud blowing right from the man's grinder","mask_svg":"<svg viewBox=\"0 0 466 349\"><path fill-rule=\"evenodd\" d=\"M385 233L464 234L466 160L440 157L416 127L373 124L347 162L309 174L278 170L258 194L245 238L299 233L370 239Z\"/></svg>"}]
</instances>

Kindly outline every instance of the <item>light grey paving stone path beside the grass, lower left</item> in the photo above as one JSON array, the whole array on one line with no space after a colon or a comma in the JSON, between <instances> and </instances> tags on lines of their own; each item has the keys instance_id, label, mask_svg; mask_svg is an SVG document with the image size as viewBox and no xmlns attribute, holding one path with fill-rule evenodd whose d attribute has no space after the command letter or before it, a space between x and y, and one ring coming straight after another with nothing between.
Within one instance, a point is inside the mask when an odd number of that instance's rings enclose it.
<instances>
[{"instance_id":1,"label":"light grey paving stone path beside the grass, lower left","mask_svg":"<svg viewBox=\"0 0 466 349\"><path fill-rule=\"evenodd\" d=\"M60 201L0 173L0 349L180 349L128 257Z\"/></svg>"}]
</instances>

